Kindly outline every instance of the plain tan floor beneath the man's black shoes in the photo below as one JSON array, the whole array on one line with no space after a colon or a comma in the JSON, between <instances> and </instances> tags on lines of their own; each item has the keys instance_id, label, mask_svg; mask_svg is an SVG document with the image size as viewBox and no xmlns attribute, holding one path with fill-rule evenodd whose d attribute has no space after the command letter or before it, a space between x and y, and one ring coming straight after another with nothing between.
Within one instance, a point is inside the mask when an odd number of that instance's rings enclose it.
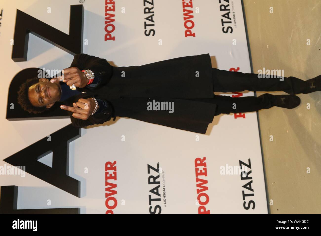
<instances>
[{"instance_id":1,"label":"plain tan floor beneath the man's black shoes","mask_svg":"<svg viewBox=\"0 0 321 236\"><path fill-rule=\"evenodd\" d=\"M284 69L303 80L321 74L321 0L243 3L254 73ZM299 97L295 109L258 112L271 214L321 213L321 92Z\"/></svg>"}]
</instances>

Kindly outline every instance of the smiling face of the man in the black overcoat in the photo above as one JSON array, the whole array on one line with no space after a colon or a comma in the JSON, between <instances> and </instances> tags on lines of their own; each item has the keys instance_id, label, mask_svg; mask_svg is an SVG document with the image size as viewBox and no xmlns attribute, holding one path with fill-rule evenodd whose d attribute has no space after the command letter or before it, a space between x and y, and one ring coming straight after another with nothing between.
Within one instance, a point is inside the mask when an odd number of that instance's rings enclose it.
<instances>
[{"instance_id":1,"label":"smiling face of the man in the black overcoat","mask_svg":"<svg viewBox=\"0 0 321 236\"><path fill-rule=\"evenodd\" d=\"M46 78L40 78L38 83L29 87L28 97L33 106L50 108L61 97L59 81L51 83Z\"/></svg>"}]
</instances>

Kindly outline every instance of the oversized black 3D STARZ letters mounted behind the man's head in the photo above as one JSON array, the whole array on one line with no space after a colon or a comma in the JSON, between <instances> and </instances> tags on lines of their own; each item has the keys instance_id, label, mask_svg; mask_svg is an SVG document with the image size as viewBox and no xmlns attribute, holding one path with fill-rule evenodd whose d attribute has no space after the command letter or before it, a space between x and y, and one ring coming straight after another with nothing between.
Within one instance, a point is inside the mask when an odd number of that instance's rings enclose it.
<instances>
[{"instance_id":1,"label":"oversized black 3D STARZ letters mounted behind the man's head","mask_svg":"<svg viewBox=\"0 0 321 236\"><path fill-rule=\"evenodd\" d=\"M64 51L76 55L82 53L83 45L83 5L70 6L69 35L52 26L17 9L16 24L14 30L14 45L12 59L15 62L26 61L28 51L29 33L55 45ZM35 68L28 68L35 69ZM26 70L26 69L25 69ZM10 85L12 89L13 84ZM16 89L8 95L11 101L16 101ZM14 109L16 110L16 109ZM9 114L7 118L21 118L19 113ZM41 118L41 117L40 117ZM26 172L42 179L57 188L60 188L76 197L80 197L80 181L68 176L69 143L81 136L81 128L71 124L51 134L51 141L47 137L31 144L23 150L4 159L13 166L25 166ZM52 152L52 168L38 160ZM17 186L1 186L0 213L2 214L79 214L80 208L54 208L54 209L17 209Z\"/></svg>"}]
</instances>

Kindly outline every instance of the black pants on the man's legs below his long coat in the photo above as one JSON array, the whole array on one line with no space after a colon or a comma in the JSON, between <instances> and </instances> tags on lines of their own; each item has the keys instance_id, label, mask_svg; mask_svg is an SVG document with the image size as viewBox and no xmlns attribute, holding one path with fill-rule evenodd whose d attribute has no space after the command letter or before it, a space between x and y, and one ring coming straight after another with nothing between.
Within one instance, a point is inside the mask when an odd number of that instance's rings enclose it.
<instances>
[{"instance_id":1,"label":"black pants on the man's legs below his long coat","mask_svg":"<svg viewBox=\"0 0 321 236\"><path fill-rule=\"evenodd\" d=\"M225 71L212 68L214 92L248 91L284 91L289 94L305 93L307 87L304 80L296 77L258 78L257 74ZM283 80L283 81L280 81ZM221 113L244 113L273 107L273 95L269 93L254 97L230 97L215 95L208 102L217 104L215 115ZM233 106L237 104L236 106ZM236 109L233 109L236 108Z\"/></svg>"}]
</instances>

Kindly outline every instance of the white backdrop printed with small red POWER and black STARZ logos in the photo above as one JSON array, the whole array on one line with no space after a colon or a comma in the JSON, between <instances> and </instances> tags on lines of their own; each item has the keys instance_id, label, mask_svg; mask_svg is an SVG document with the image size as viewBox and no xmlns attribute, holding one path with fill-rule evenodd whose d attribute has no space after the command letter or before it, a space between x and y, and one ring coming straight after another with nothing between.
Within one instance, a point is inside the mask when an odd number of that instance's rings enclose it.
<instances>
[{"instance_id":1,"label":"white backdrop printed with small red POWER and black STARZ logos","mask_svg":"<svg viewBox=\"0 0 321 236\"><path fill-rule=\"evenodd\" d=\"M239 0L1 0L2 101L7 101L9 84L20 70L63 69L73 59L30 34L27 61L14 62L10 40L16 9L68 34L70 5L79 2L85 9L83 53L106 58L114 66L209 53L213 67L251 72ZM113 14L108 40L106 13ZM8 121L5 104L0 104L3 168L9 165L3 159L70 124L70 119ZM39 161L50 166L51 157ZM19 186L18 209L80 207L82 214L267 213L255 112L215 117L205 135L120 118L82 128L82 136L70 143L69 157L69 175L81 181L80 198L29 173L2 173L0 185ZM105 172L107 162L114 169ZM247 178L241 178L240 166Z\"/></svg>"}]
</instances>

